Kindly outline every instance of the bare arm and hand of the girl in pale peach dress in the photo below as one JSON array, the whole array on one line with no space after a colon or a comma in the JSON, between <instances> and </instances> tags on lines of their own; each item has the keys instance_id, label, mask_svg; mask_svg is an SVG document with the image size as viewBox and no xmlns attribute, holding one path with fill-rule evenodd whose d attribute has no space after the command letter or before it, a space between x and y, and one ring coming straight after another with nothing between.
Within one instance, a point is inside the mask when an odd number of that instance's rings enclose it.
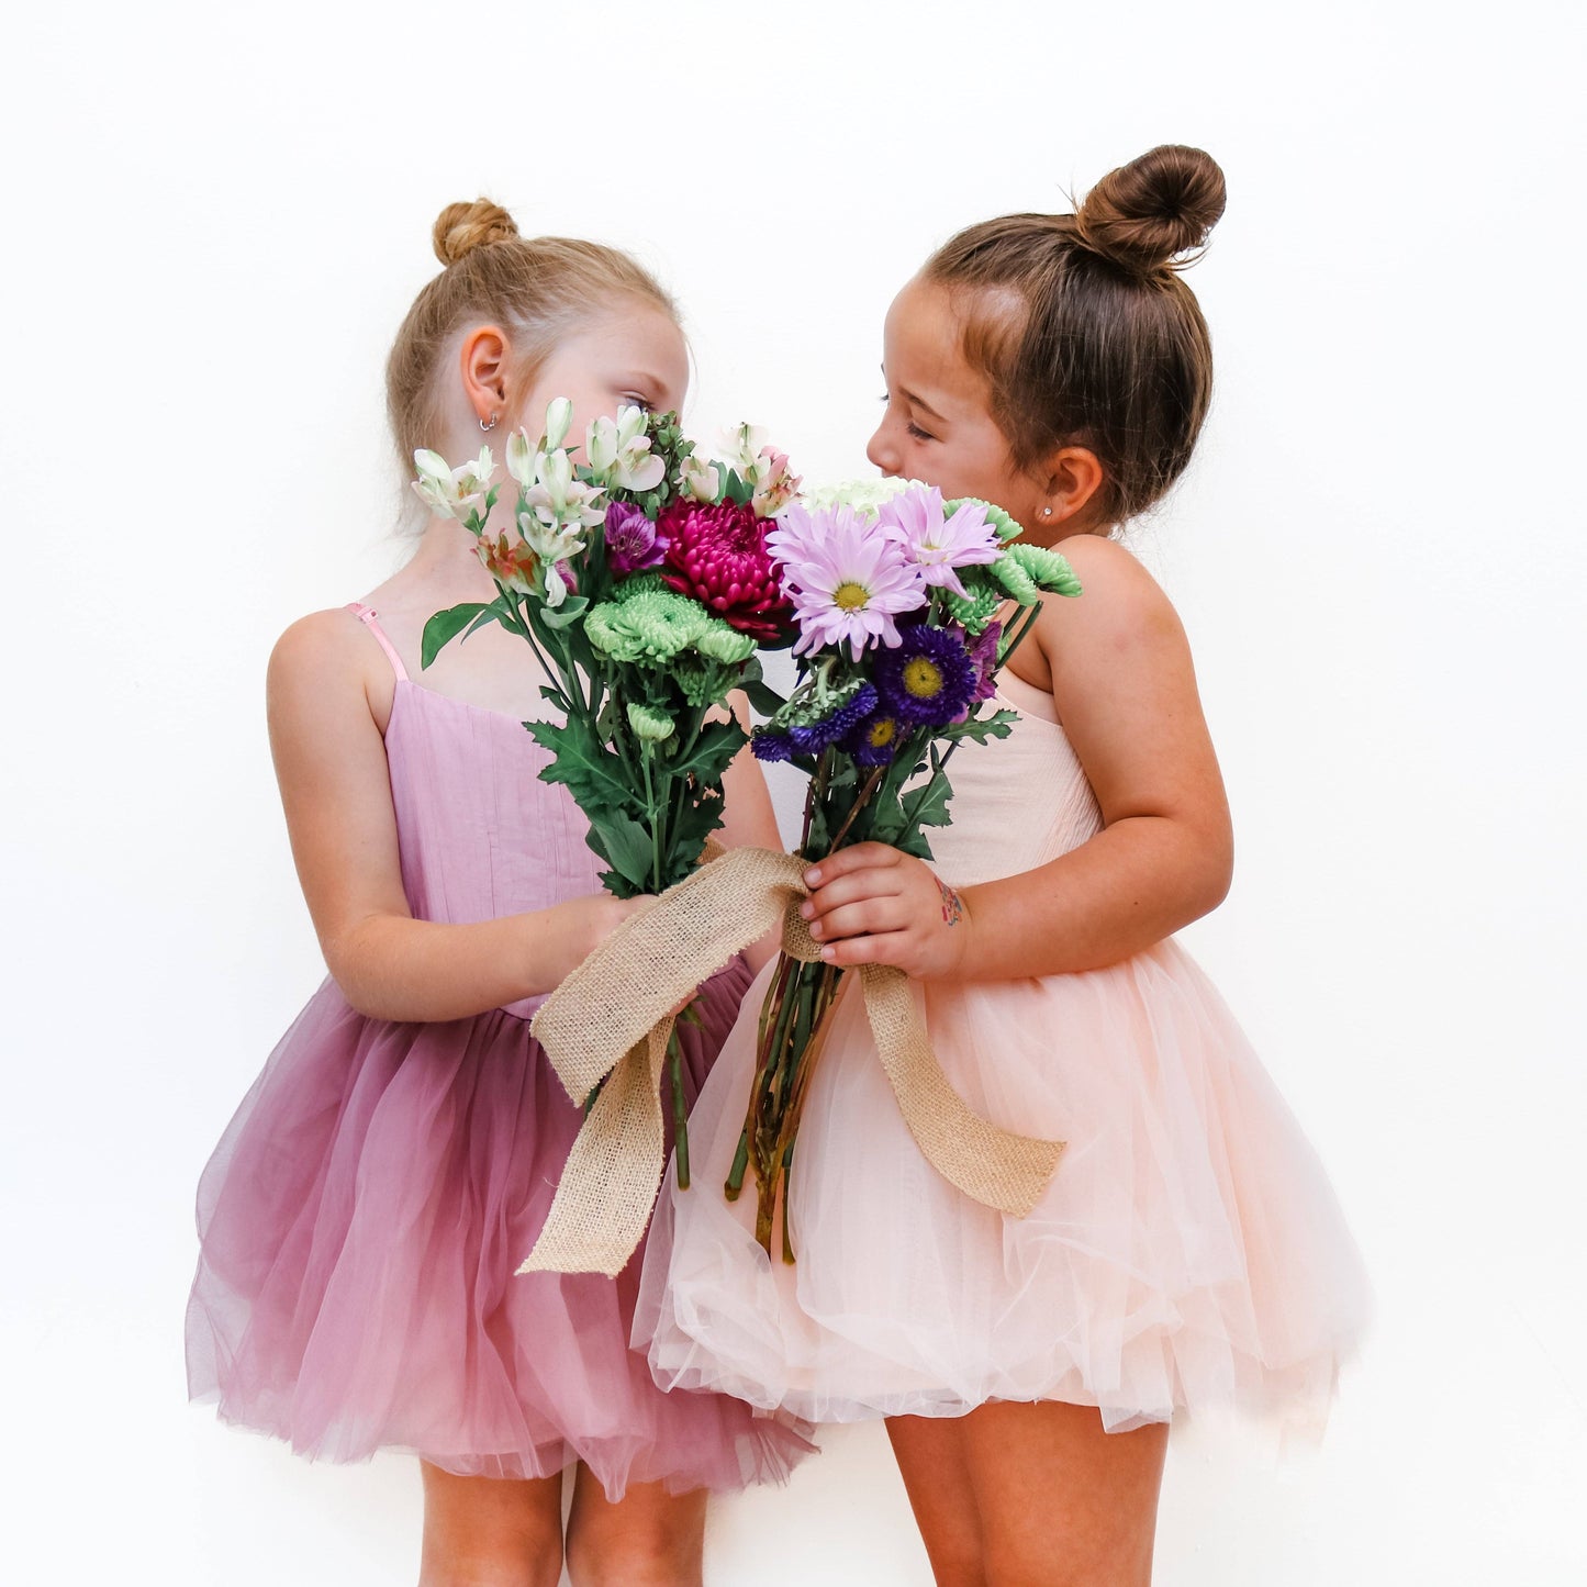
<instances>
[{"instance_id":1,"label":"bare arm and hand of the girl in pale peach dress","mask_svg":"<svg viewBox=\"0 0 1587 1587\"><path fill-rule=\"evenodd\" d=\"M1228 890L1228 805L1179 619L1122 548L1073 536L1062 549L1086 594L1047 601L1025 641L1036 652L1020 651L1017 670L1051 678L1103 830L962 895L895 849L844 849L816 868L806 905L833 963L960 979L1093 970L1162 941Z\"/></svg>"}]
</instances>

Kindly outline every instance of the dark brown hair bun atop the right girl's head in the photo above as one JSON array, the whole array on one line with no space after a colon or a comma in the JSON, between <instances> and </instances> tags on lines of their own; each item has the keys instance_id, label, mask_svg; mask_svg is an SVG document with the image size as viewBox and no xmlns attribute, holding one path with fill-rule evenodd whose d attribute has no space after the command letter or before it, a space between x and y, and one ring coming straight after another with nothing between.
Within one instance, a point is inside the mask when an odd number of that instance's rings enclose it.
<instances>
[{"instance_id":1,"label":"dark brown hair bun atop the right girl's head","mask_svg":"<svg viewBox=\"0 0 1587 1587\"><path fill-rule=\"evenodd\" d=\"M1211 154L1165 143L1097 183L1074 229L1093 252L1136 275L1152 275L1179 254L1206 246L1224 197L1224 173Z\"/></svg>"}]
</instances>

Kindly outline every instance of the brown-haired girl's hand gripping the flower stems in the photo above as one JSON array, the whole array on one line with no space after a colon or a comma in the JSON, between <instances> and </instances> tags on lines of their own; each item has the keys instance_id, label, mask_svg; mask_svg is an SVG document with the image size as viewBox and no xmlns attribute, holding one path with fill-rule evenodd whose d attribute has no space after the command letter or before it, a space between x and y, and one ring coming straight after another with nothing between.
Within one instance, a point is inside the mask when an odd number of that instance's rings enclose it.
<instances>
[{"instance_id":1,"label":"brown-haired girl's hand gripping the flower stems","mask_svg":"<svg viewBox=\"0 0 1587 1587\"><path fill-rule=\"evenodd\" d=\"M913 855L886 843L840 849L805 873L800 905L827 963L895 965L920 978L952 976L965 959L970 911Z\"/></svg>"}]
</instances>

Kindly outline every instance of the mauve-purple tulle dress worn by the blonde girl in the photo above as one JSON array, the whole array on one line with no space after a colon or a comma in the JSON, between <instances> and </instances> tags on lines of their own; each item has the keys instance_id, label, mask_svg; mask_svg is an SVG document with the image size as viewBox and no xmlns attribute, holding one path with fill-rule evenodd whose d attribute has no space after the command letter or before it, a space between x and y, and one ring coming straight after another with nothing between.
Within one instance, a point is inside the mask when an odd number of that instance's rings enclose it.
<instances>
[{"instance_id":1,"label":"mauve-purple tulle dress worn by the blonde girl","mask_svg":"<svg viewBox=\"0 0 1587 1587\"><path fill-rule=\"evenodd\" d=\"M505 716L398 671L386 732L414 916L482 920L598 890L586 822ZM735 960L684 1027L698 1087L747 981ZM579 1125L528 1017L395 1024L327 981L271 1054L198 1187L187 1381L224 1420L327 1460L414 1451L460 1474L584 1460L628 1482L738 1489L809 1446L727 1397L663 1393L616 1281L514 1270Z\"/></svg>"}]
</instances>

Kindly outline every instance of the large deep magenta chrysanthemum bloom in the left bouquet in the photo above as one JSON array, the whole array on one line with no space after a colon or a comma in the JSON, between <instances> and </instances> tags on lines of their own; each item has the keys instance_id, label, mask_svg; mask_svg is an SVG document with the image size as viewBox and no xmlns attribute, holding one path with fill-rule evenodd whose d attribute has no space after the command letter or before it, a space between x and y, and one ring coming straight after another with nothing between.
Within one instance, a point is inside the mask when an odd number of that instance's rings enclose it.
<instances>
[{"instance_id":1,"label":"large deep magenta chrysanthemum bloom in the left bouquet","mask_svg":"<svg viewBox=\"0 0 1587 1587\"><path fill-rule=\"evenodd\" d=\"M767 522L747 506L678 498L662 508L667 536L665 582L692 595L740 633L776 643L789 627L790 605L767 549Z\"/></svg>"}]
</instances>

